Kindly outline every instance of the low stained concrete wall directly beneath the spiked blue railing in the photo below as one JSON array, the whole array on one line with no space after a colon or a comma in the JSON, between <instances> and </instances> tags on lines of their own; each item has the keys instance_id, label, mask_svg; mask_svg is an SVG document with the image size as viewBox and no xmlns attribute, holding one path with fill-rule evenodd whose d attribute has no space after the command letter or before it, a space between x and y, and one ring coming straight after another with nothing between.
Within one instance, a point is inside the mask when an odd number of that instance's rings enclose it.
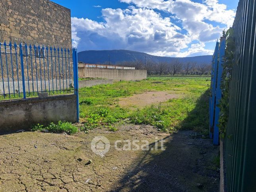
<instances>
[{"instance_id":1,"label":"low stained concrete wall directly beneath the spiked blue railing","mask_svg":"<svg viewBox=\"0 0 256 192\"><path fill-rule=\"evenodd\" d=\"M28 130L37 123L76 122L76 95L0 101L0 132Z\"/></svg>"}]
</instances>

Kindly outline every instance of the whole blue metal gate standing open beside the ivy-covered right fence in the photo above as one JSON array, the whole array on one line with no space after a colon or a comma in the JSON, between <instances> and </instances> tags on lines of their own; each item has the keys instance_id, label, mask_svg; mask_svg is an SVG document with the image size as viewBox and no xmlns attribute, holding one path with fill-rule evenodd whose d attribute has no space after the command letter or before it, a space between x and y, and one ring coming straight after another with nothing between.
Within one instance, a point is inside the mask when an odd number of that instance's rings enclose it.
<instances>
[{"instance_id":1,"label":"whole blue metal gate standing open beside the ivy-covered right fence","mask_svg":"<svg viewBox=\"0 0 256 192\"><path fill-rule=\"evenodd\" d=\"M221 37L221 42L216 43L211 70L211 96L209 99L209 127L210 138L213 144L219 145L219 100L221 99L221 76L223 72L223 59L225 56L226 39Z\"/></svg>"}]
</instances>

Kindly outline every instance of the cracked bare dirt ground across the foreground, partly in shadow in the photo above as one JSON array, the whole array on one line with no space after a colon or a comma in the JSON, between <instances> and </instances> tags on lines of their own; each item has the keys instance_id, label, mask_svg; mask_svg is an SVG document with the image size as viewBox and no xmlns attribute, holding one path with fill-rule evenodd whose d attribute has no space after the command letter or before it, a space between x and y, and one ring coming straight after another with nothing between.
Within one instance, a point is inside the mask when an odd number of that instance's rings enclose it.
<instances>
[{"instance_id":1,"label":"cracked bare dirt ground across the foreground, partly in shadow","mask_svg":"<svg viewBox=\"0 0 256 192\"><path fill-rule=\"evenodd\" d=\"M109 139L105 157L91 151L95 136ZM165 151L118 151L116 140L165 139ZM207 191L219 189L213 164L218 147L195 132L157 132L121 124L73 136L23 132L0 136L0 191ZM88 161L91 163L88 165ZM202 185L201 185L202 184Z\"/></svg>"}]
</instances>

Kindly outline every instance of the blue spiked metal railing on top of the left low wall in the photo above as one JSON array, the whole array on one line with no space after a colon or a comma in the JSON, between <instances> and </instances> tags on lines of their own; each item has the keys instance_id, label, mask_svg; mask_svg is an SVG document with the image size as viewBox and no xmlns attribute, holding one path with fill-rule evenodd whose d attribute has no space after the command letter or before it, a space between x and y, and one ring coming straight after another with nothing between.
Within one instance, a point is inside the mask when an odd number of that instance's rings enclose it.
<instances>
[{"instance_id":1,"label":"blue spiked metal railing on top of the left low wall","mask_svg":"<svg viewBox=\"0 0 256 192\"><path fill-rule=\"evenodd\" d=\"M73 76L71 54L69 48L0 43L0 99L74 93L78 76Z\"/></svg>"}]
</instances>

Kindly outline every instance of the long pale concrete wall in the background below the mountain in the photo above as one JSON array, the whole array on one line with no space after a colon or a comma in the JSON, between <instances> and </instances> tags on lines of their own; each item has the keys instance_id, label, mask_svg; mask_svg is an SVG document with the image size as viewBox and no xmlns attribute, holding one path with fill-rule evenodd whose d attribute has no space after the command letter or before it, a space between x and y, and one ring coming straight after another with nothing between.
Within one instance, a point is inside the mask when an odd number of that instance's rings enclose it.
<instances>
[{"instance_id":1,"label":"long pale concrete wall in the background below the mountain","mask_svg":"<svg viewBox=\"0 0 256 192\"><path fill-rule=\"evenodd\" d=\"M114 81L144 80L147 78L147 70L128 70L128 69L101 69L79 67L78 77L80 78L104 78Z\"/></svg>"}]
</instances>

